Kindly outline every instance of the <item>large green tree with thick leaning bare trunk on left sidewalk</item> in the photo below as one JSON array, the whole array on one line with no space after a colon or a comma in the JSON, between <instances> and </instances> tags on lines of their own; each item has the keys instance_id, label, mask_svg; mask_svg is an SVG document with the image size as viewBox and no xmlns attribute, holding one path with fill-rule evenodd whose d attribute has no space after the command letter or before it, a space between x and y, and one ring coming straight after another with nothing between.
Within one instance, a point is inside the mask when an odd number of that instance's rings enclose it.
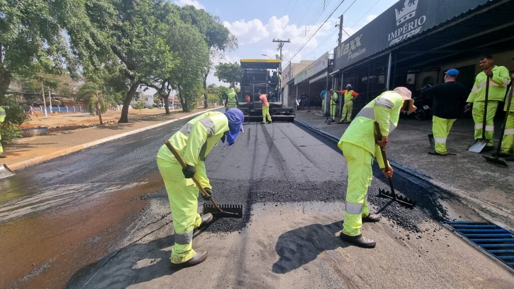
<instances>
[{"instance_id":1,"label":"large green tree with thick leaning bare trunk on left sidewalk","mask_svg":"<svg viewBox=\"0 0 514 289\"><path fill-rule=\"evenodd\" d=\"M128 122L128 106L141 84L167 79L177 63L166 43L165 19L172 6L161 0L94 0L87 2L88 17L108 34L110 48L127 79L128 91L118 123Z\"/></svg>"}]
</instances>

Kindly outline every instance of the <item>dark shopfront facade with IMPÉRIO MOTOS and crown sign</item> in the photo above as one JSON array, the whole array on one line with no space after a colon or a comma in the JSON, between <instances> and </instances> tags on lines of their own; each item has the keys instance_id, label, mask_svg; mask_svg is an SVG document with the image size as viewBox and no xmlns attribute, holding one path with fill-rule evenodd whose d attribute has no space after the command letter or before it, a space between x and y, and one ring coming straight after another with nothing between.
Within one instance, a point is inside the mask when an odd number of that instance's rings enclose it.
<instances>
[{"instance_id":1,"label":"dark shopfront facade with IMP\u00c9RIO MOTOS and crown sign","mask_svg":"<svg viewBox=\"0 0 514 289\"><path fill-rule=\"evenodd\" d=\"M333 87L353 85L354 111L397 86L416 97L449 68L471 90L484 54L514 70L512 11L512 0L401 0L334 49Z\"/></svg>"}]
</instances>

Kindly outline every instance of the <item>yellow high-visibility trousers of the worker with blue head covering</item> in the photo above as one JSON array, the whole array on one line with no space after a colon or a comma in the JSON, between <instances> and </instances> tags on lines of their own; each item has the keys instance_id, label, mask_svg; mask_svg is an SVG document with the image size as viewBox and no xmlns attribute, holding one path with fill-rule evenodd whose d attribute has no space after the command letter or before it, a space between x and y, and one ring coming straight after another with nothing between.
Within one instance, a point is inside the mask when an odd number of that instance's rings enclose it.
<instances>
[{"instance_id":1,"label":"yellow high-visibility trousers of the worker with blue head covering","mask_svg":"<svg viewBox=\"0 0 514 289\"><path fill-rule=\"evenodd\" d=\"M192 179L184 177L179 164L157 158L157 167L168 192L175 228L171 262L175 264L187 262L196 254L192 248L193 230L201 224L200 215L197 213L198 188ZM205 171L205 164L200 161L196 170L197 174L199 170Z\"/></svg>"}]
</instances>

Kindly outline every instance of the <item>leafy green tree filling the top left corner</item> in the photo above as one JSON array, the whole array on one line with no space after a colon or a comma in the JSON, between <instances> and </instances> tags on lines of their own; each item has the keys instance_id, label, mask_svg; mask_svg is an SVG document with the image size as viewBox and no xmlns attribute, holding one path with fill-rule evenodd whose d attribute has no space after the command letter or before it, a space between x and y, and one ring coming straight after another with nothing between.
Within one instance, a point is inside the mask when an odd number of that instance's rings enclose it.
<instances>
[{"instance_id":1,"label":"leafy green tree filling the top left corner","mask_svg":"<svg viewBox=\"0 0 514 289\"><path fill-rule=\"evenodd\" d=\"M105 34L84 17L83 0L2 0L0 11L0 104L13 74L77 77L79 67L88 74L101 66Z\"/></svg>"}]
</instances>

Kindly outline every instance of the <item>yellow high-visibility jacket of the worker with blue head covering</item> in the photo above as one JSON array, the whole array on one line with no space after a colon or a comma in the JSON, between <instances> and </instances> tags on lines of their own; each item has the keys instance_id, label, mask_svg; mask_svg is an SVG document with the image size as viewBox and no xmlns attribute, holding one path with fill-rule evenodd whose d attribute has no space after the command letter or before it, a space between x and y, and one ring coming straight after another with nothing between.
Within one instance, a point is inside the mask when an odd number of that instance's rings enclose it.
<instances>
[{"instance_id":1,"label":"yellow high-visibility jacket of the worker with blue head covering","mask_svg":"<svg viewBox=\"0 0 514 289\"><path fill-rule=\"evenodd\" d=\"M228 119L225 114L207 112L190 120L169 139L186 164L196 167L195 176L204 188L211 188L204 161L228 129ZM166 145L159 149L157 158L178 164Z\"/></svg>"}]
</instances>

